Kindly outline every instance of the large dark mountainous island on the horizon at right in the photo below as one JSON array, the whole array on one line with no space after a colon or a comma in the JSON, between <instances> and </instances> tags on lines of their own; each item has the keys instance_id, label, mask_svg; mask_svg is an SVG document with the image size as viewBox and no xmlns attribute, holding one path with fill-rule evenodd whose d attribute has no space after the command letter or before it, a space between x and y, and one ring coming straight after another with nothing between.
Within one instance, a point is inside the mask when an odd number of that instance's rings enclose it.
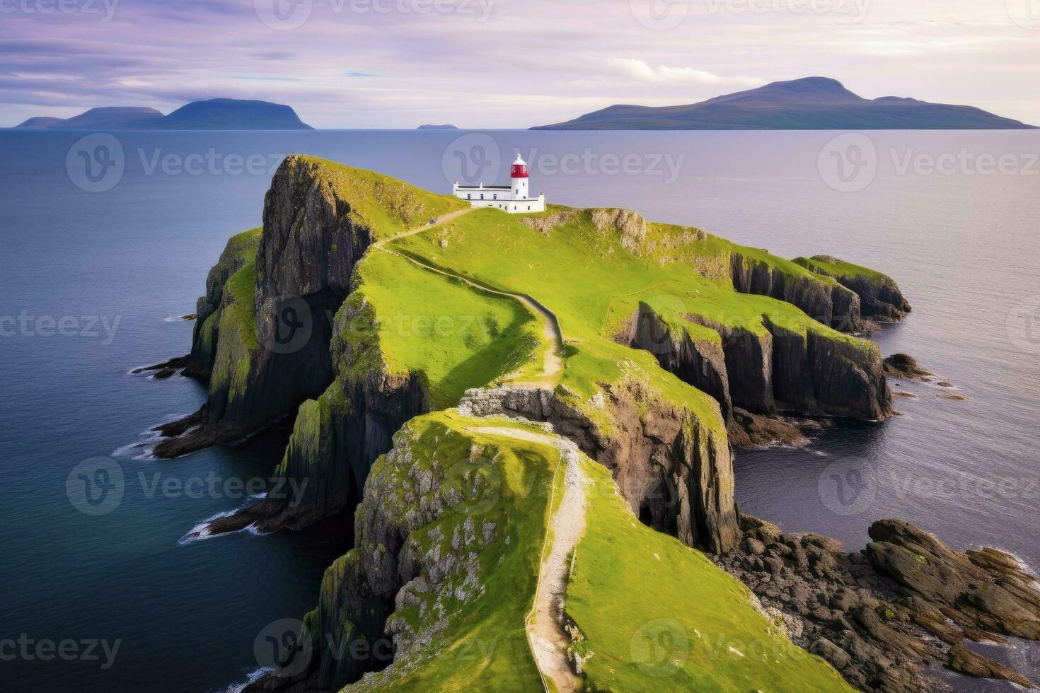
<instances>
[{"instance_id":1,"label":"large dark mountainous island on the horizon at right","mask_svg":"<svg viewBox=\"0 0 1040 693\"><path fill-rule=\"evenodd\" d=\"M773 82L683 106L609 106L531 130L1016 130L1035 126L972 106L863 99L826 77Z\"/></svg>"}]
</instances>

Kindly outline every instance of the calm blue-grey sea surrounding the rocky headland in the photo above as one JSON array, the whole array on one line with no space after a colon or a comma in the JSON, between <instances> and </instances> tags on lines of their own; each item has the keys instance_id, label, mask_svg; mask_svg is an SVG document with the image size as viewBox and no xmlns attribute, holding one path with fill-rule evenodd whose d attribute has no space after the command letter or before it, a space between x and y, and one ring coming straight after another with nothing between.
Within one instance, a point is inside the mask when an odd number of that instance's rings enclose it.
<instances>
[{"instance_id":1,"label":"calm blue-grey sea surrounding the rocky headland","mask_svg":"<svg viewBox=\"0 0 1040 693\"><path fill-rule=\"evenodd\" d=\"M322 569L348 545L342 523L179 542L242 502L236 480L269 474L278 432L174 461L127 451L201 404L193 381L128 371L188 349L191 324L167 318L193 312L228 236L259 225L274 166L292 152L447 192L454 178L493 183L516 149L549 202L630 207L891 274L914 312L876 336L884 353L916 356L968 399L908 384L917 399L898 399L905 416L884 425L743 453L742 509L850 549L872 519L901 516L1040 568L1040 132L832 144L836 133L151 132L77 143L87 134L0 131L0 639L32 656L3 662L12 690L222 690L257 668L264 625L313 607ZM1002 156L1003 172L985 175ZM77 507L98 506L73 503L67 480L75 488L74 468L96 457L112 458L125 490L92 515ZM67 640L81 657L45 659L47 642ZM96 660L82 657L92 641L105 641ZM1036 676L1036 649L1015 652Z\"/></svg>"}]
</instances>

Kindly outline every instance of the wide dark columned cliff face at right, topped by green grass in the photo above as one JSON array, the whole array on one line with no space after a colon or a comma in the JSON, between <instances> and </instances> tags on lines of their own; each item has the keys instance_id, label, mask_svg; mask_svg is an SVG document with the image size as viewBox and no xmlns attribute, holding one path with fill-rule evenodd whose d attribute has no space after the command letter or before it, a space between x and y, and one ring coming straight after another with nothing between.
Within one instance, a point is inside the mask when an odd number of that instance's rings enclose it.
<instances>
[{"instance_id":1,"label":"wide dark columned cliff face at right, topped by green grass","mask_svg":"<svg viewBox=\"0 0 1040 693\"><path fill-rule=\"evenodd\" d=\"M619 336L656 356L661 368L719 401L727 425L734 407L773 416L780 408L805 416L881 421L892 412L881 354L865 341L813 329L797 332L762 317L752 331L683 316L717 339L675 326L641 303Z\"/></svg>"}]
</instances>

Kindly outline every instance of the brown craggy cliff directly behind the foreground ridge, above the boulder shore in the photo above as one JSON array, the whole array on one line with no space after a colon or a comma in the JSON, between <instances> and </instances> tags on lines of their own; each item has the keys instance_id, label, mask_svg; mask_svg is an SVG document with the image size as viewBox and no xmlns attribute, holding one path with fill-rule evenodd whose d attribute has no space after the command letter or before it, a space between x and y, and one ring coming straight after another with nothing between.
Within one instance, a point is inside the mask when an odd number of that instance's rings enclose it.
<instances>
[{"instance_id":1,"label":"brown craggy cliff directly behind the foreground ridge, above the boulder shore","mask_svg":"<svg viewBox=\"0 0 1040 693\"><path fill-rule=\"evenodd\" d=\"M602 406L617 424L609 432L571 403L573 395L566 392L470 390L459 410L551 423L556 433L610 470L622 498L646 524L711 553L732 548L738 527L726 436L688 410L656 401L639 383L612 387L604 395Z\"/></svg>"}]
</instances>

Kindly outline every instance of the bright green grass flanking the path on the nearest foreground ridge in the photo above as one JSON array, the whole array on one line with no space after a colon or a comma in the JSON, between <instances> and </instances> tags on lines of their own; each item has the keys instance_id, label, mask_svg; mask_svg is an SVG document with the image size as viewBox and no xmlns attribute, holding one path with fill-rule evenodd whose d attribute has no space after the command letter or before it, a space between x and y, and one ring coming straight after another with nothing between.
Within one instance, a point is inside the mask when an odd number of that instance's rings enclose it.
<instances>
[{"instance_id":1,"label":"bright green grass flanking the path on the nearest foreground ridge","mask_svg":"<svg viewBox=\"0 0 1040 693\"><path fill-rule=\"evenodd\" d=\"M438 492L437 484L417 488L418 479L447 479L448 464L477 451L478 491L408 539L427 557L446 556L469 523L478 529L462 553L472 552L476 562L468 571L446 571L441 583L424 572L423 591L406 588L409 596L398 605L408 606L389 620L394 632L408 634L405 647L389 669L344 691L541 690L524 622L543 543L554 540L550 516L565 481L552 445L509 436L505 427L518 424L453 410L426 415L409 423L375 463L374 485L392 489L380 503L388 514L406 516L410 508L428 507L427 496ZM584 456L580 464L589 479L587 530L572 555L566 612L580 632L574 647L587 690L851 690L759 613L736 579L636 521L604 468ZM493 529L482 537L484 527ZM466 599L453 598L460 587Z\"/></svg>"}]
</instances>

